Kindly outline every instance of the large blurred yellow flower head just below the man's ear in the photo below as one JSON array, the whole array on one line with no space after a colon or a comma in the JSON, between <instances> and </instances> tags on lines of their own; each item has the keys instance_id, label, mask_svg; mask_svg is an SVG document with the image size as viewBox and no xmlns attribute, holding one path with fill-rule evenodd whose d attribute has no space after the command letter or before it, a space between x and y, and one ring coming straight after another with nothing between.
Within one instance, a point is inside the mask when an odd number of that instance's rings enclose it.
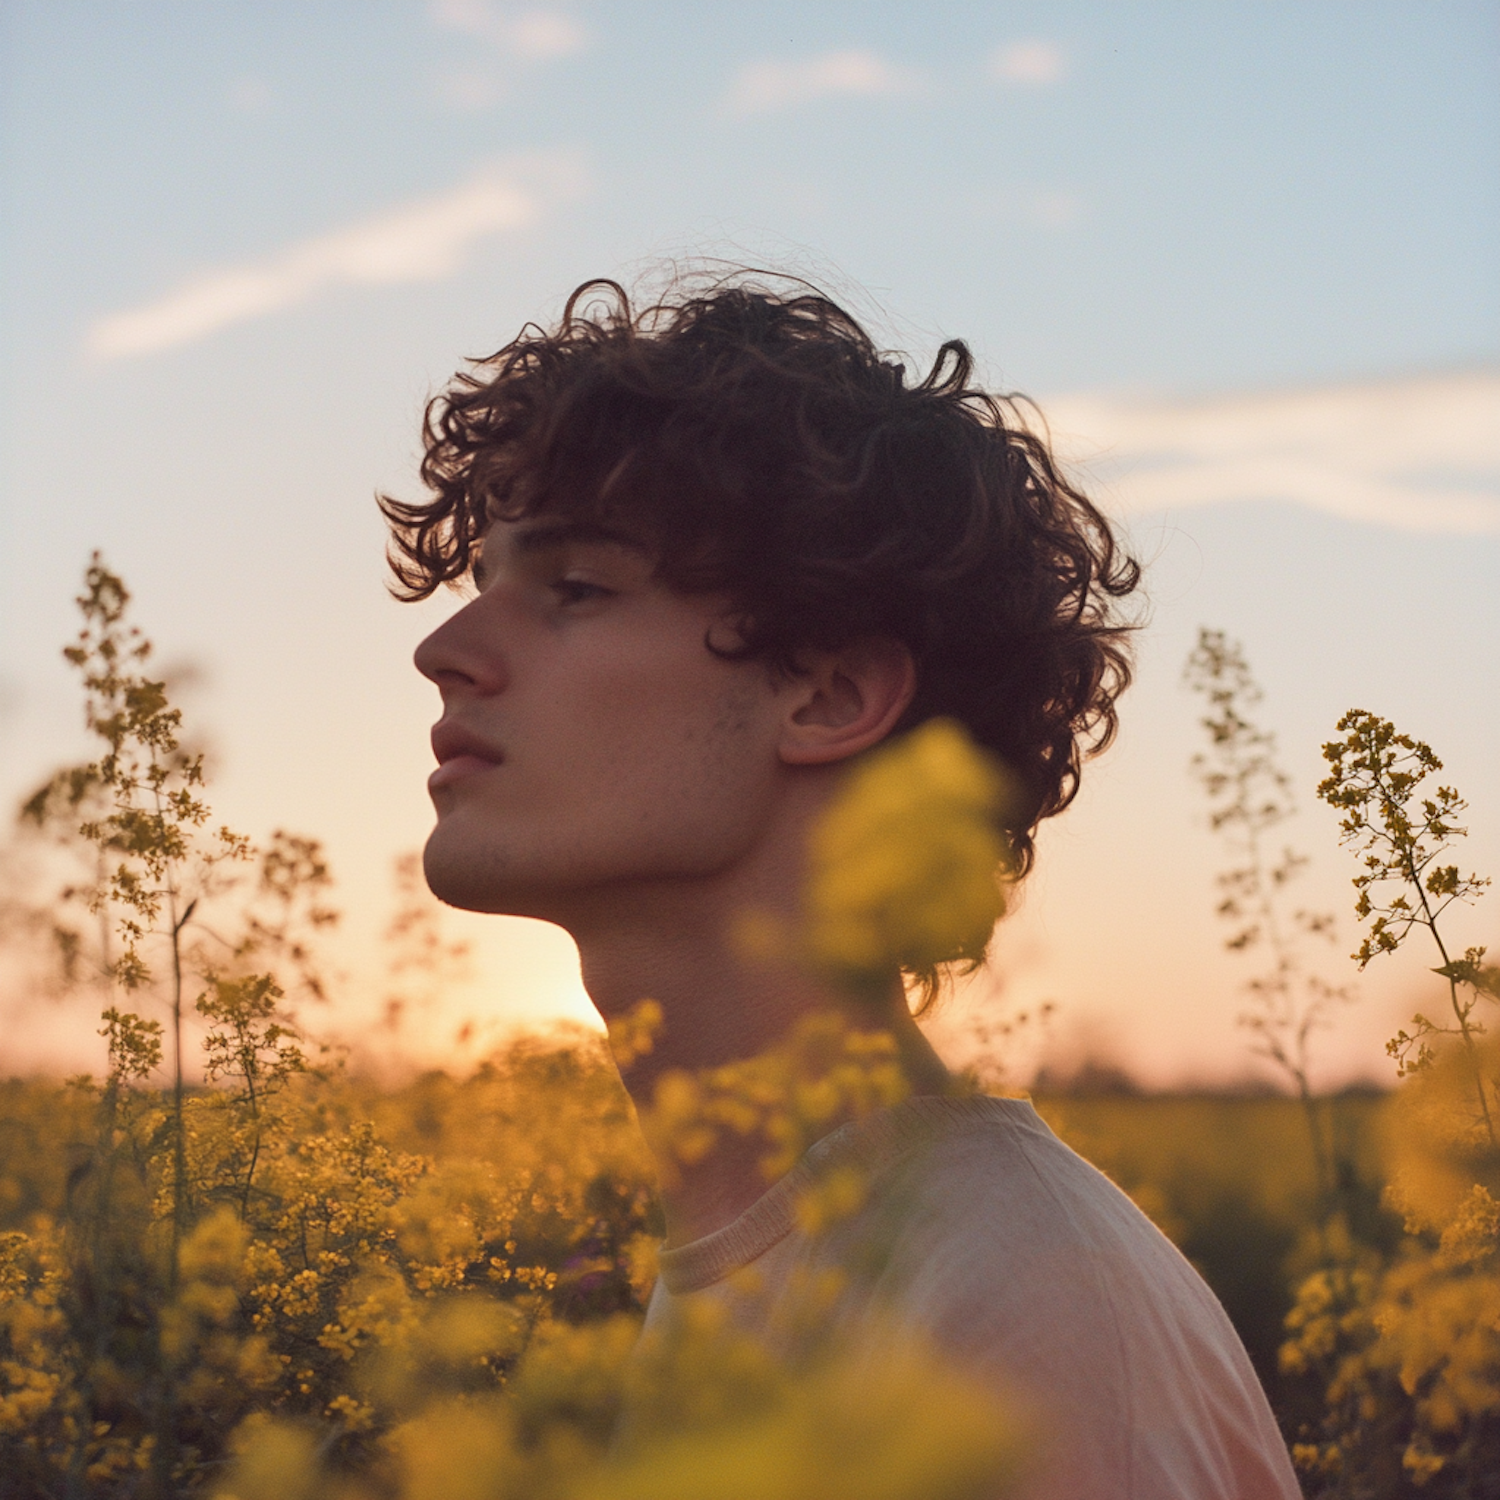
<instances>
[{"instance_id":1,"label":"large blurred yellow flower head just below the man's ear","mask_svg":"<svg viewBox=\"0 0 1500 1500\"><path fill-rule=\"evenodd\" d=\"M984 958L1005 910L1006 777L948 718L855 765L812 840L808 945L849 981Z\"/></svg>"}]
</instances>

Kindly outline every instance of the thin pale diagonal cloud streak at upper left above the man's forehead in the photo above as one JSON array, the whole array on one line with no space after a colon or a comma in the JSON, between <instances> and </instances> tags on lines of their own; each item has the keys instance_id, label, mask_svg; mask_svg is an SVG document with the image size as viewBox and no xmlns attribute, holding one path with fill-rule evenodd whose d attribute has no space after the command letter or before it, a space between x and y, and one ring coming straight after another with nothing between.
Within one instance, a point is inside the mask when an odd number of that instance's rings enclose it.
<instances>
[{"instance_id":1,"label":"thin pale diagonal cloud streak at upper left above the man's forehead","mask_svg":"<svg viewBox=\"0 0 1500 1500\"><path fill-rule=\"evenodd\" d=\"M568 154L512 159L450 192L300 240L266 260L207 272L165 297L100 318L88 330L87 352L94 360L154 354L336 286L440 280L482 240L534 225L580 186L582 168Z\"/></svg>"}]
</instances>

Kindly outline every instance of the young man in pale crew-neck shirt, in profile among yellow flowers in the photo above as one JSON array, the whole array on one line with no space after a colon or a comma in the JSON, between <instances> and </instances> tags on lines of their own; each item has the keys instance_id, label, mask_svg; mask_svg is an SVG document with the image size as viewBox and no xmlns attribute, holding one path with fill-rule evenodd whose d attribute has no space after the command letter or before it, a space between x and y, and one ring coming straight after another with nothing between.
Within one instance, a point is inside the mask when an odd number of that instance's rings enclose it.
<instances>
[{"instance_id":1,"label":"young man in pale crew-neck shirt, in profile among yellow flowers","mask_svg":"<svg viewBox=\"0 0 1500 1500\"><path fill-rule=\"evenodd\" d=\"M444 705L428 880L564 927L606 1020L658 1002L621 1070L642 1106L814 1012L896 1038L910 1096L780 1182L734 1137L664 1176L648 1326L747 1266L770 1326L808 1269L858 1263L838 1322L1042 1413L1029 1492L1292 1497L1228 1320L1146 1218L1029 1104L957 1096L898 972L856 999L742 940L746 912L796 928L812 831L890 736L940 716L1004 762L1020 874L1113 732L1138 570L970 374L951 342L908 381L831 302L744 278L640 314L590 284L460 374L429 410L432 498L384 501L408 597L476 586L417 650ZM864 1208L808 1236L796 1194L850 1164Z\"/></svg>"}]
</instances>

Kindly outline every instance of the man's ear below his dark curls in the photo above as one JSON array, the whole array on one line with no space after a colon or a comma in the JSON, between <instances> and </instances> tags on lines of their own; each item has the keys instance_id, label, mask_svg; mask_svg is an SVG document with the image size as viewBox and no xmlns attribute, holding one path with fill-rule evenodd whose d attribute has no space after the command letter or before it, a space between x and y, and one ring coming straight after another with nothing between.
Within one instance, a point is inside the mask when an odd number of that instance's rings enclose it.
<instances>
[{"instance_id":1,"label":"man's ear below his dark curls","mask_svg":"<svg viewBox=\"0 0 1500 1500\"><path fill-rule=\"evenodd\" d=\"M777 750L784 765L828 765L884 740L916 693L910 650L870 636L840 651L810 651L784 688Z\"/></svg>"}]
</instances>

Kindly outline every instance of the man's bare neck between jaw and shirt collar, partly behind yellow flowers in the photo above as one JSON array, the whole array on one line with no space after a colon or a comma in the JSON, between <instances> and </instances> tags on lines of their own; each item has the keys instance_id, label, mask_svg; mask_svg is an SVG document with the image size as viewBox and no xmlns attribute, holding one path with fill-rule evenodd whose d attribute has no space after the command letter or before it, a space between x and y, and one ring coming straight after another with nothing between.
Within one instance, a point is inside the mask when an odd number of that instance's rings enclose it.
<instances>
[{"instance_id":1,"label":"man's bare neck between jaw and shirt collar, partly behind yellow flowers","mask_svg":"<svg viewBox=\"0 0 1500 1500\"><path fill-rule=\"evenodd\" d=\"M890 976L884 998L856 1000L792 958L746 951L742 914L765 912L790 927L795 903L777 897L796 888L795 879L747 882L740 872L638 890L628 900L615 892L606 910L570 922L584 984L606 1022L627 1016L644 999L662 1006L650 1052L616 1054L642 1116L663 1074L698 1074L759 1056L782 1046L804 1017L830 1011L852 1030L891 1034L909 1092L940 1094L950 1086L946 1068L910 1017L898 975ZM826 1128L846 1118L831 1118ZM658 1156L668 1244L722 1228L765 1192L765 1144L720 1132L706 1155L692 1162Z\"/></svg>"}]
</instances>

